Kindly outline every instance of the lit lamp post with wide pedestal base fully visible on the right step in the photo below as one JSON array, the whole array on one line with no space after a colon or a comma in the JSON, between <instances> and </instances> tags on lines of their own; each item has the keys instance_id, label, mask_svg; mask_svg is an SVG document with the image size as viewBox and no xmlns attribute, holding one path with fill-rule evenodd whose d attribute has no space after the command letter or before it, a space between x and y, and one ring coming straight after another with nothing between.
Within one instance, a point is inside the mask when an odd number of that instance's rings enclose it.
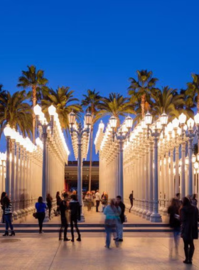
<instances>
[{"instance_id":1,"label":"lit lamp post with wide pedestal base fully visible on the right step","mask_svg":"<svg viewBox=\"0 0 199 270\"><path fill-rule=\"evenodd\" d=\"M144 117L145 123L148 127L147 134L151 134L154 138L154 209L150 216L151 222L161 222L161 215L158 213L158 138L161 136L161 132L164 136L165 126L168 122L168 116L163 112L160 117L160 122L156 121L154 131L149 126L152 124L152 115L148 112Z\"/></svg>"}]
</instances>

